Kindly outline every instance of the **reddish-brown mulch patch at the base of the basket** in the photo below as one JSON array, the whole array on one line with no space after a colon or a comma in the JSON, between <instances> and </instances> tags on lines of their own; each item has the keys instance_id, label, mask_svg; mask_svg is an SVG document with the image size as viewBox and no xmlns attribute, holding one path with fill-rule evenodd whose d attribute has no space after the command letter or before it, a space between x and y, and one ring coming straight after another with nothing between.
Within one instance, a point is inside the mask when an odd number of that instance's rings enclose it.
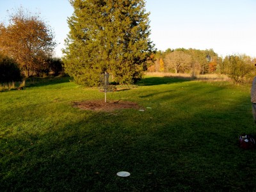
<instances>
[{"instance_id":1,"label":"reddish-brown mulch patch at the base of the basket","mask_svg":"<svg viewBox=\"0 0 256 192\"><path fill-rule=\"evenodd\" d=\"M82 102L73 102L75 108L92 111L115 111L117 109L143 109L135 102L116 100L104 102L104 100L87 100Z\"/></svg>"}]
</instances>

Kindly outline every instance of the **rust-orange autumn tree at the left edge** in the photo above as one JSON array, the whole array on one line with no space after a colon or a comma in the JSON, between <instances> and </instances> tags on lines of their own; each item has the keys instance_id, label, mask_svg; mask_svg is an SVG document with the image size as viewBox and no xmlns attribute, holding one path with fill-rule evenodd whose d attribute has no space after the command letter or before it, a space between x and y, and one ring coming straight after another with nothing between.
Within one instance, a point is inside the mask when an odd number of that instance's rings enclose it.
<instances>
[{"instance_id":1,"label":"rust-orange autumn tree at the left edge","mask_svg":"<svg viewBox=\"0 0 256 192\"><path fill-rule=\"evenodd\" d=\"M0 49L13 58L29 76L31 70L40 73L47 68L56 42L51 28L39 15L25 12L21 7L10 15L9 24L0 25Z\"/></svg>"}]
</instances>

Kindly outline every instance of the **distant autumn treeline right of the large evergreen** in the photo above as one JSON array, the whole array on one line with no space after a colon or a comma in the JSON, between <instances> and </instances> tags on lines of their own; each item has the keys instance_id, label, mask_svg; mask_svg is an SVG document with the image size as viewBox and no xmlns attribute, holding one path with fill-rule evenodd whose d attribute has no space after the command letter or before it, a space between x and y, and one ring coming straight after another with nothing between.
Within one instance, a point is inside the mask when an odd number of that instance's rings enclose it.
<instances>
[{"instance_id":1,"label":"distant autumn treeline right of the large evergreen","mask_svg":"<svg viewBox=\"0 0 256 192\"><path fill-rule=\"evenodd\" d=\"M255 76L256 58L233 54L221 58L212 49L166 49L157 51L148 60L148 72L191 74L225 74L235 83L246 83Z\"/></svg>"}]
</instances>

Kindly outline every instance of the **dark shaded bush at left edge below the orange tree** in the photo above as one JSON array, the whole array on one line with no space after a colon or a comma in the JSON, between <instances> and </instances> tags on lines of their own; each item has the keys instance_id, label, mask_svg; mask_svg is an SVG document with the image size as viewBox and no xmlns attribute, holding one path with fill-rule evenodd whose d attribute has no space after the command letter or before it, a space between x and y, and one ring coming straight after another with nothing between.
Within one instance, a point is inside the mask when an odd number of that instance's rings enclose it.
<instances>
[{"instance_id":1,"label":"dark shaded bush at left edge below the orange tree","mask_svg":"<svg viewBox=\"0 0 256 192\"><path fill-rule=\"evenodd\" d=\"M21 81L20 69L14 60L0 55L0 83Z\"/></svg>"}]
</instances>

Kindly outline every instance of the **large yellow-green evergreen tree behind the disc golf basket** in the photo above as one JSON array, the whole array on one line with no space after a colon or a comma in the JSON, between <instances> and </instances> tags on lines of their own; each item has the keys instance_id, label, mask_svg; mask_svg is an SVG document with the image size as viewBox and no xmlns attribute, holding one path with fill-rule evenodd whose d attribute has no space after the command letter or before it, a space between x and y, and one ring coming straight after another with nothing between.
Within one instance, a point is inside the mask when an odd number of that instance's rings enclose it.
<instances>
[{"instance_id":1,"label":"large yellow-green evergreen tree behind the disc golf basket","mask_svg":"<svg viewBox=\"0 0 256 192\"><path fill-rule=\"evenodd\" d=\"M141 79L153 49L143 0L70 0L65 71L78 84L95 86L104 72L116 83Z\"/></svg>"}]
</instances>

